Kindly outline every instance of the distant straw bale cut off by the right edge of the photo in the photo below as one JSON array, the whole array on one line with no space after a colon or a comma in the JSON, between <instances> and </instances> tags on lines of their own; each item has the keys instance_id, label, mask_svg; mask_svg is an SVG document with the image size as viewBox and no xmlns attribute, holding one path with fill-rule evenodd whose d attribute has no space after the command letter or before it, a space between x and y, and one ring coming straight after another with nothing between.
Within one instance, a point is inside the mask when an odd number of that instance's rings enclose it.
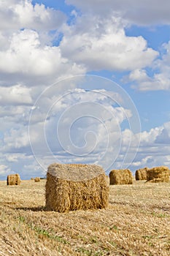
<instances>
[{"instance_id":1,"label":"distant straw bale cut off by the right edge of the photo","mask_svg":"<svg viewBox=\"0 0 170 256\"><path fill-rule=\"evenodd\" d=\"M169 182L169 167L159 166L147 170L147 181L152 183Z\"/></svg>"}]
</instances>

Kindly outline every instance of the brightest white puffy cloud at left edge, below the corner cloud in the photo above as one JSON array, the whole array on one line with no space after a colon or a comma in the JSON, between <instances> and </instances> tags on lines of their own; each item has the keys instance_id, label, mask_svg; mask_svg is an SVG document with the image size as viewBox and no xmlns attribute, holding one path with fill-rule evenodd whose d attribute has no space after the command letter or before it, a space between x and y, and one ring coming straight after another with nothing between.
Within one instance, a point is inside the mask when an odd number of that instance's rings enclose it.
<instances>
[{"instance_id":1,"label":"brightest white puffy cloud at left edge, below the corner cloud","mask_svg":"<svg viewBox=\"0 0 170 256\"><path fill-rule=\"evenodd\" d=\"M61 56L58 47L42 46L36 31L24 30L12 35L7 50L0 51L0 72L58 78L85 72L81 66Z\"/></svg>"}]
</instances>

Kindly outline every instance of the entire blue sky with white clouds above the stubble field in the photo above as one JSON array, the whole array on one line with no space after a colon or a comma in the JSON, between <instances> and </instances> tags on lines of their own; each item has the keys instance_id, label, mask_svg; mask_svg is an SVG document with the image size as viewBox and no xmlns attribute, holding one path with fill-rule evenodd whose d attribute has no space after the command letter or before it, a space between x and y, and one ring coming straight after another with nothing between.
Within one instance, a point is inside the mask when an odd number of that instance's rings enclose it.
<instances>
[{"instance_id":1,"label":"entire blue sky with white clouds above the stubble field","mask_svg":"<svg viewBox=\"0 0 170 256\"><path fill-rule=\"evenodd\" d=\"M0 179L170 167L170 2L0 1Z\"/></svg>"}]
</instances>

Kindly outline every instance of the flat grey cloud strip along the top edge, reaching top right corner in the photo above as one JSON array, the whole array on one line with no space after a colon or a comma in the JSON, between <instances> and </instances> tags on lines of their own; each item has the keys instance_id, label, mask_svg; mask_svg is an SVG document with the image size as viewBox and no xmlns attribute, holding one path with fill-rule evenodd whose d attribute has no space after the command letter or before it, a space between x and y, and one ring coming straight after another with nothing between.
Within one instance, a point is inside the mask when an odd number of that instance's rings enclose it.
<instances>
[{"instance_id":1,"label":"flat grey cloud strip along the top edge, reaching top right corner","mask_svg":"<svg viewBox=\"0 0 170 256\"><path fill-rule=\"evenodd\" d=\"M159 0L66 0L66 3L73 4L82 12L92 12L105 17L115 12L130 23L138 25L170 24L169 0L163 0L161 4Z\"/></svg>"}]
</instances>

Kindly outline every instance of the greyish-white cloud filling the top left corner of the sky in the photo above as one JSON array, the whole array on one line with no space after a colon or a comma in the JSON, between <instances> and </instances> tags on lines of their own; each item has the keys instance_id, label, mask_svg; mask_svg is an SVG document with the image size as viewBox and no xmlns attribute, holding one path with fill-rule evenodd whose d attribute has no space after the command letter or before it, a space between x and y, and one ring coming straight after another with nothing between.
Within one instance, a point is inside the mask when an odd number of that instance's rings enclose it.
<instances>
[{"instance_id":1,"label":"greyish-white cloud filling the top left corner of the sky","mask_svg":"<svg viewBox=\"0 0 170 256\"><path fill-rule=\"evenodd\" d=\"M35 4L29 0L0 2L0 30L36 29L49 31L58 29L66 21L66 16L44 4Z\"/></svg>"}]
</instances>

